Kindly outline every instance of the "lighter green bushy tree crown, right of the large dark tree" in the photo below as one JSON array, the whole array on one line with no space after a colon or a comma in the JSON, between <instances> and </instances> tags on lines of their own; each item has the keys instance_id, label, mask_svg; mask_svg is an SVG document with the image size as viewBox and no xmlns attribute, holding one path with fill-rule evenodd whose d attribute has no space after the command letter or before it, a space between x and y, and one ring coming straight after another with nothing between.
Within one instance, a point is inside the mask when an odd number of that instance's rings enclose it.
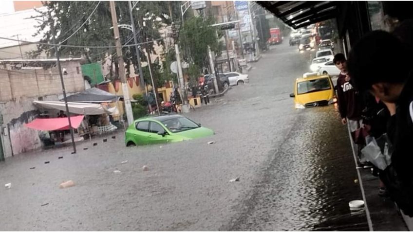
<instances>
[{"instance_id":1,"label":"lighter green bushy tree crown, right of the large dark tree","mask_svg":"<svg viewBox=\"0 0 413 232\"><path fill-rule=\"evenodd\" d=\"M218 33L216 27L210 26L214 23L215 19L212 17L192 17L185 21L180 31L179 43L188 63L207 67L207 46L211 47L211 51L219 51L217 34L222 36L222 32Z\"/></svg>"}]
</instances>

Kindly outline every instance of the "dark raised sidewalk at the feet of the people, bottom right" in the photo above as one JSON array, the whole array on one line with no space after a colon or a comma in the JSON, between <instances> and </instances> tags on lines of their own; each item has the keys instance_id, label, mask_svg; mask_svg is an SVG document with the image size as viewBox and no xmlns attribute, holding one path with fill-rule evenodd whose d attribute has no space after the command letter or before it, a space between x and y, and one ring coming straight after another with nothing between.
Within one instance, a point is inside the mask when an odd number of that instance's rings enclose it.
<instances>
[{"instance_id":1,"label":"dark raised sidewalk at the feet of the people, bottom right","mask_svg":"<svg viewBox=\"0 0 413 232\"><path fill-rule=\"evenodd\" d=\"M357 167L357 152L351 140L350 130L349 138ZM409 231L394 202L390 198L378 196L378 178L372 175L370 168L357 169L357 175L370 231Z\"/></svg>"}]
</instances>

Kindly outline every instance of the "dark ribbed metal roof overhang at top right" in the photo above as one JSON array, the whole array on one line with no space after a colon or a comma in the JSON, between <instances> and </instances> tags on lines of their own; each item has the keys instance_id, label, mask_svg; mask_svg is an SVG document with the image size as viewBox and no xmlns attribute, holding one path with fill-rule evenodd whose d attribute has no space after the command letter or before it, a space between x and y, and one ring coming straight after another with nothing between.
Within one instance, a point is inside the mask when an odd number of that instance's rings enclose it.
<instances>
[{"instance_id":1,"label":"dark ribbed metal roof overhang at top right","mask_svg":"<svg viewBox=\"0 0 413 232\"><path fill-rule=\"evenodd\" d=\"M334 1L256 1L285 24L297 29L337 16Z\"/></svg>"}]
</instances>

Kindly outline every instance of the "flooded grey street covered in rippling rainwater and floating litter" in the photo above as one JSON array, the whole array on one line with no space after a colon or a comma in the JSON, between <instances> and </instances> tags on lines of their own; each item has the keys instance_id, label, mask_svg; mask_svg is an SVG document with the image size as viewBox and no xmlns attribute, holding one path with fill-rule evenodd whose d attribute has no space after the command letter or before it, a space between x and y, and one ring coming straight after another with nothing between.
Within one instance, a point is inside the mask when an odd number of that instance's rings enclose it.
<instances>
[{"instance_id":1,"label":"flooded grey street covered in rippling rainwater and floating litter","mask_svg":"<svg viewBox=\"0 0 413 232\"><path fill-rule=\"evenodd\" d=\"M368 230L348 208L361 192L346 127L289 97L312 56L274 46L249 84L188 113L212 137L126 148L120 133L0 163L0 230Z\"/></svg>"}]
</instances>

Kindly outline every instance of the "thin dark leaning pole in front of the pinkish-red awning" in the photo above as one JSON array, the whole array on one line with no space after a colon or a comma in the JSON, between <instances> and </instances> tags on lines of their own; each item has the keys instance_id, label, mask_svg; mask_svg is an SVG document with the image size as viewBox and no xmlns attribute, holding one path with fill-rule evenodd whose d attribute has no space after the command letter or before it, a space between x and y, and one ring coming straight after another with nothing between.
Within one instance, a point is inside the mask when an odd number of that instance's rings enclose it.
<instances>
[{"instance_id":1,"label":"thin dark leaning pole in front of the pinkish-red awning","mask_svg":"<svg viewBox=\"0 0 413 232\"><path fill-rule=\"evenodd\" d=\"M76 153L76 144L75 144L75 136L73 133L73 127L72 127L72 122L70 121L70 112L69 112L69 106L67 105L67 97L66 97L66 89L64 86L64 80L63 80L63 74L62 74L62 67L60 66L60 57L59 57L59 49L57 48L56 45L56 32L55 32L55 21L52 18L52 14L49 13L49 22L50 22L50 29L52 30L52 42L55 44L55 53L56 53L56 64L57 64L57 69L59 70L59 76L60 76L60 82L62 84L62 91L63 91L63 99L65 102L65 107L66 107L66 115L67 115L67 120L69 121L69 128L70 128L70 137L72 139L72 146L73 146L73 152L72 154Z\"/></svg>"}]
</instances>

